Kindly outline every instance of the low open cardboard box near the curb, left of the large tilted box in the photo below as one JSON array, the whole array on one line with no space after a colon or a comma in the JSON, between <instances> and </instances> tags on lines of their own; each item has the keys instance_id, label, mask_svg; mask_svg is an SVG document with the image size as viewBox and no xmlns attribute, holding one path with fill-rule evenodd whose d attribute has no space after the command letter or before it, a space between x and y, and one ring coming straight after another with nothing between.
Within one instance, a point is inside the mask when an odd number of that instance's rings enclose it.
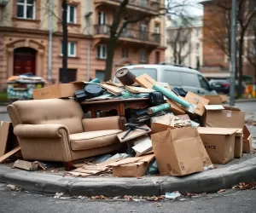
<instances>
[{"instance_id":1,"label":"low open cardboard box near the curb, left of the large tilted box","mask_svg":"<svg viewBox=\"0 0 256 213\"><path fill-rule=\"evenodd\" d=\"M148 170L150 162L154 159L154 154L144 155L142 157L137 157L136 162L131 158L131 163L129 163L128 158L120 160L114 164L112 167L113 176L119 177L139 177L144 176ZM125 161L125 164L122 163Z\"/></svg>"}]
</instances>

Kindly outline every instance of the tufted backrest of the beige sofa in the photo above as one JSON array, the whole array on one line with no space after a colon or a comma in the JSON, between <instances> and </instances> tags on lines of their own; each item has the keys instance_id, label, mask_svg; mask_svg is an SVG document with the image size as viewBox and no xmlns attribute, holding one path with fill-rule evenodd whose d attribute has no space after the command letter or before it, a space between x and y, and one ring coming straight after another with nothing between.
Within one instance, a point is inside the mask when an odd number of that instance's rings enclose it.
<instances>
[{"instance_id":1,"label":"tufted backrest of the beige sofa","mask_svg":"<svg viewBox=\"0 0 256 213\"><path fill-rule=\"evenodd\" d=\"M70 134L83 132L84 112L73 99L15 101L8 112L14 125L63 124Z\"/></svg>"}]
</instances>

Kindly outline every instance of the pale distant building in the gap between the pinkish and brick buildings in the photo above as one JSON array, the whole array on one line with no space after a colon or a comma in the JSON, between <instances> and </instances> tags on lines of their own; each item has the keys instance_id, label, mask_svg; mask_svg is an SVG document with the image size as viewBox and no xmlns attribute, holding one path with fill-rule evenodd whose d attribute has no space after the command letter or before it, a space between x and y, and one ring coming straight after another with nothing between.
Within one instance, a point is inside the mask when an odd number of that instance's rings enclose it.
<instances>
[{"instance_id":1,"label":"pale distant building in the gap between the pinkish and brick buildings","mask_svg":"<svg viewBox=\"0 0 256 213\"><path fill-rule=\"evenodd\" d=\"M180 55L182 64L196 69L203 58L202 16L189 17L189 23L183 20L166 18L166 62L175 63L173 49L177 48L177 58Z\"/></svg>"}]
</instances>

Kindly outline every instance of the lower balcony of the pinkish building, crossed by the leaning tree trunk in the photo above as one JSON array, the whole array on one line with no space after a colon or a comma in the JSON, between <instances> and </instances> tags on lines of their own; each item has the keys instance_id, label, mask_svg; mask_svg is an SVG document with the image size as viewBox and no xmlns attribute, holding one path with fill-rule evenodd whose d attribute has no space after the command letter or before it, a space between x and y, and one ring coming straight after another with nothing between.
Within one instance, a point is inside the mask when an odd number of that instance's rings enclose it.
<instances>
[{"instance_id":1,"label":"lower balcony of the pinkish building, crossed by the leaning tree trunk","mask_svg":"<svg viewBox=\"0 0 256 213\"><path fill-rule=\"evenodd\" d=\"M109 26L103 25L95 26L96 38L106 38L109 37ZM126 28L119 37L119 41L131 42L131 43L147 43L153 46L160 46L160 34L154 32L143 32L137 29Z\"/></svg>"}]
</instances>

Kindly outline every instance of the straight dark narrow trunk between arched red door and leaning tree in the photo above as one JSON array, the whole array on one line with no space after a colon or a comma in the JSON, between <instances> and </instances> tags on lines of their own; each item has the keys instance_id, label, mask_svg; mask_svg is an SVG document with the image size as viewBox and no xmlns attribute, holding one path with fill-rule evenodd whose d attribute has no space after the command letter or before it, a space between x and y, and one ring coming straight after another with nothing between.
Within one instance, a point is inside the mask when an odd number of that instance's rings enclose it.
<instances>
[{"instance_id":1,"label":"straight dark narrow trunk between arched red door and leaning tree","mask_svg":"<svg viewBox=\"0 0 256 213\"><path fill-rule=\"evenodd\" d=\"M62 31L62 72L67 73L67 0L62 0Z\"/></svg>"}]
</instances>

